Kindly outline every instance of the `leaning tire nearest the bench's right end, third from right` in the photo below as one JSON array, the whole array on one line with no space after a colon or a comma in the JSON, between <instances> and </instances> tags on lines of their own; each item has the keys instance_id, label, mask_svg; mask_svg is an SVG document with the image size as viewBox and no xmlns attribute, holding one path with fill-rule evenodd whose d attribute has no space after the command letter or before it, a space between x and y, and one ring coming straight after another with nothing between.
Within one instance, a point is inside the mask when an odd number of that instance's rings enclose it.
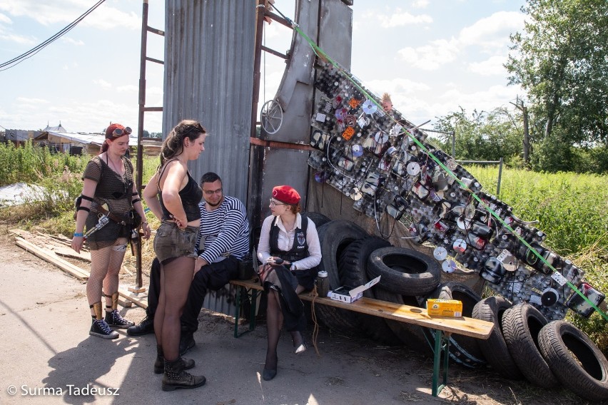
<instances>
[{"instance_id":1,"label":"leaning tire nearest the bench's right end, third from right","mask_svg":"<svg viewBox=\"0 0 608 405\"><path fill-rule=\"evenodd\" d=\"M506 379L519 380L523 378L522 372L511 357L505 337L502 336L502 315L512 305L503 297L487 297L475 304L472 317L494 324L490 337L477 342L487 363Z\"/></svg>"}]
</instances>

